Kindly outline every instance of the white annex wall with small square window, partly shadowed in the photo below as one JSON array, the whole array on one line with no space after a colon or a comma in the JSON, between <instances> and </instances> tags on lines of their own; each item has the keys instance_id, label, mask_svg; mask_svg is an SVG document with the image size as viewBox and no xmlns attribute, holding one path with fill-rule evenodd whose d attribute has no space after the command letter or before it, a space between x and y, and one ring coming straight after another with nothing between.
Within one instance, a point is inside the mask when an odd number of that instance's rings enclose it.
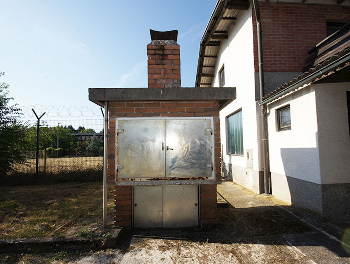
<instances>
[{"instance_id":1,"label":"white annex wall with small square window, partly shadowed","mask_svg":"<svg viewBox=\"0 0 350 264\"><path fill-rule=\"evenodd\" d=\"M278 131L276 110L288 104L291 129ZM267 120L271 173L321 184L314 86L269 104ZM278 179L280 184L283 181ZM272 188L281 192L288 190L288 186L276 186L273 182Z\"/></svg>"}]
</instances>

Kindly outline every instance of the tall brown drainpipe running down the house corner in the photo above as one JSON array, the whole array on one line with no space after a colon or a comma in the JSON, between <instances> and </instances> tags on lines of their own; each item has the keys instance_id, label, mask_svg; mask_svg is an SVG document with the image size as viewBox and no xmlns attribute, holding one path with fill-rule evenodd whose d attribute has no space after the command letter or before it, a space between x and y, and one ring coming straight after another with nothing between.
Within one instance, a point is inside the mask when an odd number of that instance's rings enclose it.
<instances>
[{"instance_id":1,"label":"tall brown drainpipe running down the house corner","mask_svg":"<svg viewBox=\"0 0 350 264\"><path fill-rule=\"evenodd\" d=\"M261 34L261 18L258 0L253 0L255 19L257 21L257 36L258 36L258 62L259 62L259 83L260 83L260 102L264 97L264 63L262 59L262 34ZM261 146L262 146L262 166L264 169L264 194L271 194L270 177L269 177L269 153L267 141L267 106L263 104L261 109Z\"/></svg>"}]
</instances>

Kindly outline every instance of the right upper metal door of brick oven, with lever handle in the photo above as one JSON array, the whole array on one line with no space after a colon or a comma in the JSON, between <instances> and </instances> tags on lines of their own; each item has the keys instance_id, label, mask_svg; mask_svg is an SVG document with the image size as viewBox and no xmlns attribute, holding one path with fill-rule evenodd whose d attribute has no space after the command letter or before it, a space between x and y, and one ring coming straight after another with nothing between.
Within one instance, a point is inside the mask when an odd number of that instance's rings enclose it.
<instances>
[{"instance_id":1,"label":"right upper metal door of brick oven, with lever handle","mask_svg":"<svg viewBox=\"0 0 350 264\"><path fill-rule=\"evenodd\" d=\"M211 176L211 121L166 120L166 177Z\"/></svg>"}]
</instances>

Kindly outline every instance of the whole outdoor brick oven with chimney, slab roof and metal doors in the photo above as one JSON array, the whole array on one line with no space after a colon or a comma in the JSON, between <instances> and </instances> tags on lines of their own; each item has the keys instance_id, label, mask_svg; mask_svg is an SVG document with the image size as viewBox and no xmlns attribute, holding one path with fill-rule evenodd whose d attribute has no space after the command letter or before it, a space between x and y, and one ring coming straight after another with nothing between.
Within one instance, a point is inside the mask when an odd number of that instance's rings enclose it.
<instances>
[{"instance_id":1,"label":"whole outdoor brick oven with chimney, slab roof and metal doors","mask_svg":"<svg viewBox=\"0 0 350 264\"><path fill-rule=\"evenodd\" d=\"M182 88L176 38L177 31L151 31L148 88L89 89L109 113L105 176L114 186L115 226L217 223L219 110L236 89Z\"/></svg>"}]
</instances>

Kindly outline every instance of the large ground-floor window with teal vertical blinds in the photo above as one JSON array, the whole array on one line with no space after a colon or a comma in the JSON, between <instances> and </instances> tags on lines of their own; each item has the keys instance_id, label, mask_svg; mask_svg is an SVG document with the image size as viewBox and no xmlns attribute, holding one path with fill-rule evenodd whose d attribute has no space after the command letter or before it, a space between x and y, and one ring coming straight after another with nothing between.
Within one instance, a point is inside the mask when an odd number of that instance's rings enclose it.
<instances>
[{"instance_id":1,"label":"large ground-floor window with teal vertical blinds","mask_svg":"<svg viewBox=\"0 0 350 264\"><path fill-rule=\"evenodd\" d=\"M226 117L227 153L243 155L242 110Z\"/></svg>"}]
</instances>

